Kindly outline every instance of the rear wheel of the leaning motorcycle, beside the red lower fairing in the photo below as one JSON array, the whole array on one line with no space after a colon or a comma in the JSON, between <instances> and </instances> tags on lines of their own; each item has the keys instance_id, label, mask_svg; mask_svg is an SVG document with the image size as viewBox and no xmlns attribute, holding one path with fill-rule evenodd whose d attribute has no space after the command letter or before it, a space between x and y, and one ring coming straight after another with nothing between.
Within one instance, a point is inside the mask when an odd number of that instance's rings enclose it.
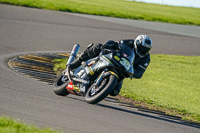
<instances>
[{"instance_id":1,"label":"rear wheel of the leaning motorcycle, beside the red lower fairing","mask_svg":"<svg viewBox=\"0 0 200 133\"><path fill-rule=\"evenodd\" d=\"M56 78L53 86L53 90L57 95L66 96L69 94L66 87L69 84L69 80L66 80L62 73Z\"/></svg>"}]
</instances>

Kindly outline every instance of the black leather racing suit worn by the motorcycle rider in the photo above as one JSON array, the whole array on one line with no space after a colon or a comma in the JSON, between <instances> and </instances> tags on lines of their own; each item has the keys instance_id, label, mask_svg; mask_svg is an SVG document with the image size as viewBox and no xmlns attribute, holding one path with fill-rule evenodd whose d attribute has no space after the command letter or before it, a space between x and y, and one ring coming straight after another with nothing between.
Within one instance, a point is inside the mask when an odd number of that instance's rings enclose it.
<instances>
[{"instance_id":1,"label":"black leather racing suit worn by the motorcycle rider","mask_svg":"<svg viewBox=\"0 0 200 133\"><path fill-rule=\"evenodd\" d=\"M129 47L134 49L134 40L133 39L120 40L119 42L109 40L109 41L105 42L104 44L88 45L87 49L83 53L81 53L79 58L81 58L81 60L83 60L83 61L94 58L94 57L98 56L104 48L116 49L116 48L118 48L118 44L121 44L121 43L128 45ZM135 55L136 56L135 56L135 60L133 63L134 75L132 78L140 79L143 76L145 70L147 69L147 67L150 63L150 54L146 55L143 58L140 58L137 54L135 54ZM118 83L110 95L112 95L112 96L118 95L118 93L121 90L122 83L123 83L123 81Z\"/></svg>"}]
</instances>

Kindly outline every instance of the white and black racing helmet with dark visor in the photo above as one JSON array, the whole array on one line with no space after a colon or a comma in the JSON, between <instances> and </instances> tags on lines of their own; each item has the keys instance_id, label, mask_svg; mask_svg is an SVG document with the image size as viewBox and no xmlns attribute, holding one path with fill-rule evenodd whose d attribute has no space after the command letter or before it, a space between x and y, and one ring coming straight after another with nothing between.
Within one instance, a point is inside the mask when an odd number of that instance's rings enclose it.
<instances>
[{"instance_id":1,"label":"white and black racing helmet with dark visor","mask_svg":"<svg viewBox=\"0 0 200 133\"><path fill-rule=\"evenodd\" d=\"M152 40L147 35L139 35L134 40L135 52L141 58L145 57L152 48Z\"/></svg>"}]
</instances>

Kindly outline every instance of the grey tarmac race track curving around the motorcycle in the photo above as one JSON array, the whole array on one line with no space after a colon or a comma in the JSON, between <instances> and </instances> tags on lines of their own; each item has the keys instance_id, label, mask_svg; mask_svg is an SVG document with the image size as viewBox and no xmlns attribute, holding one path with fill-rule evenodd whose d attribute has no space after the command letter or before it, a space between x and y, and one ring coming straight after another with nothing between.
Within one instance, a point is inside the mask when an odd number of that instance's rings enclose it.
<instances>
[{"instance_id":1,"label":"grey tarmac race track curving around the motorcycle","mask_svg":"<svg viewBox=\"0 0 200 133\"><path fill-rule=\"evenodd\" d=\"M198 28L198 27L197 27ZM0 115L73 133L200 133L172 117L83 97L59 97L52 86L24 77L8 59L28 53L70 51L74 43L103 43L148 34L153 54L199 55L200 38L99 21L69 13L0 5ZM40 52L38 52L40 51Z\"/></svg>"}]
</instances>

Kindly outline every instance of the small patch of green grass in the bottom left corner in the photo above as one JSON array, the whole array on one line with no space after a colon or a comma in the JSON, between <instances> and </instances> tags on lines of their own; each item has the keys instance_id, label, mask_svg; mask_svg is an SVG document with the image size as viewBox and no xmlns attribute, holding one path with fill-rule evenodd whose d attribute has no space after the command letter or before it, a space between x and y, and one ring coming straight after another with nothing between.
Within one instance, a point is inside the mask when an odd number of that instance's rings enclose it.
<instances>
[{"instance_id":1,"label":"small patch of green grass in the bottom left corner","mask_svg":"<svg viewBox=\"0 0 200 133\"><path fill-rule=\"evenodd\" d=\"M61 133L49 128L39 129L8 117L0 117L0 133Z\"/></svg>"}]
</instances>

